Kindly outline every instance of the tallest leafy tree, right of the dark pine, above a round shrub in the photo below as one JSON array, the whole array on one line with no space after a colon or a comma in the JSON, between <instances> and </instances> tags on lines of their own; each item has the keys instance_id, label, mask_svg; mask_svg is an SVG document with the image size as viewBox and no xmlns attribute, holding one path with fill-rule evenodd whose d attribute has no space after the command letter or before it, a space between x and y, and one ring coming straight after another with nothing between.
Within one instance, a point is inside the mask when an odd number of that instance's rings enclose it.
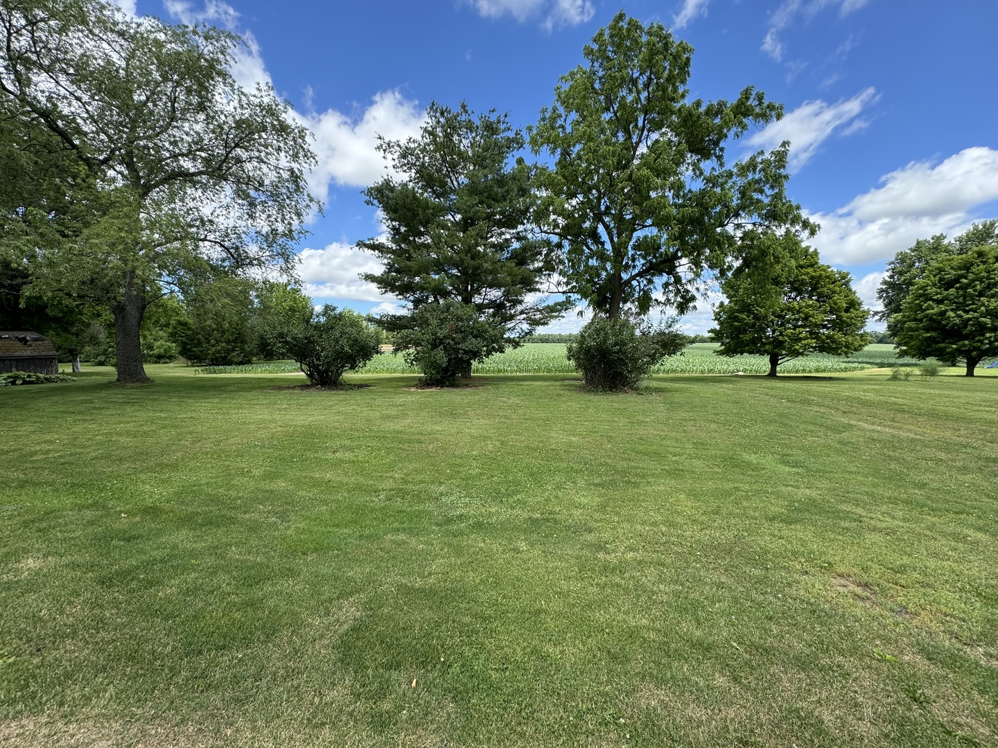
<instances>
[{"instance_id":1,"label":"tallest leafy tree, right of the dark pine, above a round shrub","mask_svg":"<svg viewBox=\"0 0 998 748\"><path fill-rule=\"evenodd\" d=\"M530 146L542 169L538 222L564 249L568 289L611 319L654 304L691 308L759 231L814 226L787 199L784 143L731 166L726 144L782 108L745 89L689 101L693 48L619 13L561 79Z\"/></svg>"}]
</instances>

